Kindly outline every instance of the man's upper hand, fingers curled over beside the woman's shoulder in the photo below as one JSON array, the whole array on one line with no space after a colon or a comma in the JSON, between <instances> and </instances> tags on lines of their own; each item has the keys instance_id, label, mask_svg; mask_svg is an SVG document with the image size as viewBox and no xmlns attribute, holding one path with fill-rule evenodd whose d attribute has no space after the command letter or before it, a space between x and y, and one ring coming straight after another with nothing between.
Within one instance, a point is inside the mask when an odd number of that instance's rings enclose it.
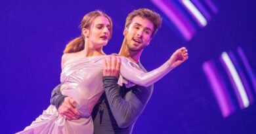
<instances>
[{"instance_id":1,"label":"man's upper hand, fingers curled over beside the woman's shoulder","mask_svg":"<svg viewBox=\"0 0 256 134\"><path fill-rule=\"evenodd\" d=\"M103 76L119 76L121 59L118 56L109 56L104 60Z\"/></svg>"}]
</instances>

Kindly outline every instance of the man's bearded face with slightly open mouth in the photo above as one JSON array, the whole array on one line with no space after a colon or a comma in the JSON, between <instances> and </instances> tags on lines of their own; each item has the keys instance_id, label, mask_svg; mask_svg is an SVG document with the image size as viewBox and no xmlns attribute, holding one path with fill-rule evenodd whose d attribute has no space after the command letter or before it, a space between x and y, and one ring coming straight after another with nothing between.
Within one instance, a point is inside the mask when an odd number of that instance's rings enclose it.
<instances>
[{"instance_id":1,"label":"man's bearded face with slightly open mouth","mask_svg":"<svg viewBox=\"0 0 256 134\"><path fill-rule=\"evenodd\" d=\"M151 41L154 25L149 20L135 16L128 27L125 27L123 35L129 50L138 52L144 49Z\"/></svg>"}]
</instances>

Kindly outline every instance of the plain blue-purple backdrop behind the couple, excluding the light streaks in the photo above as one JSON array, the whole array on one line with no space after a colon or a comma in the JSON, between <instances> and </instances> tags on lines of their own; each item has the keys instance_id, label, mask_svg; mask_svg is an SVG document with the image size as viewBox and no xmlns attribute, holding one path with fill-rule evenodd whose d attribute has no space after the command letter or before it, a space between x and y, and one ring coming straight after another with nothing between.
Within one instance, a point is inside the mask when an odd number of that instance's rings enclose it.
<instances>
[{"instance_id":1,"label":"plain blue-purple backdrop behind the couple, excluding the light streaks","mask_svg":"<svg viewBox=\"0 0 256 134\"><path fill-rule=\"evenodd\" d=\"M190 42L182 42L163 24L144 50L141 62L149 71L181 46L188 48L190 58L155 84L133 133L256 133L255 104L223 118L202 69L204 61L219 62L221 52L241 46L255 71L256 3L215 3L219 13ZM142 7L162 14L142 0L1 1L0 132L21 131L49 106L51 91L60 82L62 50L79 36L84 14L100 9L112 17L114 34L104 47L112 54L123 41L127 14Z\"/></svg>"}]
</instances>

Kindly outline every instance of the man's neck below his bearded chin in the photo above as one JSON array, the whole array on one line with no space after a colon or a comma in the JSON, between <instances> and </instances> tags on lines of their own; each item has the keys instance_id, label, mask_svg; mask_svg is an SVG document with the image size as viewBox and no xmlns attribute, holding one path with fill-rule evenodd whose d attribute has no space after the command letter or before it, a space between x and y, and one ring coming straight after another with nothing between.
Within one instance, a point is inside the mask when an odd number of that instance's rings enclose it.
<instances>
[{"instance_id":1,"label":"man's neck below his bearded chin","mask_svg":"<svg viewBox=\"0 0 256 134\"><path fill-rule=\"evenodd\" d=\"M125 44L125 41L123 41L123 44L119 51L120 56L124 56L135 63L138 63L140 61L141 53L142 53L142 50L136 51L136 52L129 50L129 48L127 47L127 44Z\"/></svg>"}]
</instances>

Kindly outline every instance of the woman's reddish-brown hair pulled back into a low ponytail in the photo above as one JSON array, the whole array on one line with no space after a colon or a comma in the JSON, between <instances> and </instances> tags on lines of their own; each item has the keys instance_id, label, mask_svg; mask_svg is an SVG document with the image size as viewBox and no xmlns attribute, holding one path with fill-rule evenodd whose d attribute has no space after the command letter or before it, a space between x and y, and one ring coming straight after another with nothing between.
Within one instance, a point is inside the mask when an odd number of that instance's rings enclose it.
<instances>
[{"instance_id":1,"label":"woman's reddish-brown hair pulled back into a low ponytail","mask_svg":"<svg viewBox=\"0 0 256 134\"><path fill-rule=\"evenodd\" d=\"M110 38L112 37L112 20L111 18L105 14L104 12L100 10L95 10L93 12L89 12L88 14L85 14L83 16L83 20L81 21L81 24L79 25L79 28L82 29L91 29L91 25L93 24L94 20L98 16L104 16L108 19L108 22L110 22ZM110 39L109 38L109 39ZM64 50L64 54L72 53L72 52L79 52L85 48L85 37L83 37L83 34L81 33L80 37L77 37L73 39L72 41L68 42L66 45L66 48Z\"/></svg>"}]
</instances>

